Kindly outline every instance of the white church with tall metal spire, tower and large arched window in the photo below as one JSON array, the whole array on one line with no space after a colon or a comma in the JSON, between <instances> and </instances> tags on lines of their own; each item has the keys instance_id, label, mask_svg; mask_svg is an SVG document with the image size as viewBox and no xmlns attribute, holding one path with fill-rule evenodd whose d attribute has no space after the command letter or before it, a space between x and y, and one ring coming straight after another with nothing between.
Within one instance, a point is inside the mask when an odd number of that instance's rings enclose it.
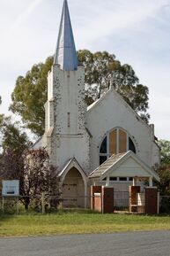
<instances>
[{"instance_id":1,"label":"white church with tall metal spire, tower and large arched window","mask_svg":"<svg viewBox=\"0 0 170 256\"><path fill-rule=\"evenodd\" d=\"M92 105L85 104L85 68L78 64L67 0L48 73L45 133L33 148L45 147L57 167L63 197L87 206L90 186L128 190L135 182L159 180L159 147L148 125L110 88Z\"/></svg>"}]
</instances>

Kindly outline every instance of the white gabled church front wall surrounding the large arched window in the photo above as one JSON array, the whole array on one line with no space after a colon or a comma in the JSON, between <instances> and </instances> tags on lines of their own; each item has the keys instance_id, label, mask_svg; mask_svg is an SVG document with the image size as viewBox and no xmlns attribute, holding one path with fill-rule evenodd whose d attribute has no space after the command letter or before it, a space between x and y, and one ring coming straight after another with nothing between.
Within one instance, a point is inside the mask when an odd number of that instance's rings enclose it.
<instances>
[{"instance_id":1,"label":"white gabled church front wall surrounding the large arched window","mask_svg":"<svg viewBox=\"0 0 170 256\"><path fill-rule=\"evenodd\" d=\"M92 134L91 170L99 166L99 147L107 132L123 128L133 138L137 156L149 167L159 163L159 148L154 142L153 129L140 120L115 89L107 91L96 104L88 108L86 125Z\"/></svg>"}]
</instances>

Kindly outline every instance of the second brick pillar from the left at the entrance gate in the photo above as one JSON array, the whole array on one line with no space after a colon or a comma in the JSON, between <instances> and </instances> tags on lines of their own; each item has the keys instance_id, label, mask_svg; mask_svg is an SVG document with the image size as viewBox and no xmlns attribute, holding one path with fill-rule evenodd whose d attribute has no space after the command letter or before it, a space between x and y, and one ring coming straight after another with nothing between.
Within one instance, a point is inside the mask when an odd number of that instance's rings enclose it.
<instances>
[{"instance_id":1,"label":"second brick pillar from the left at the entrance gate","mask_svg":"<svg viewBox=\"0 0 170 256\"><path fill-rule=\"evenodd\" d=\"M102 213L114 213L114 188L102 187Z\"/></svg>"}]
</instances>

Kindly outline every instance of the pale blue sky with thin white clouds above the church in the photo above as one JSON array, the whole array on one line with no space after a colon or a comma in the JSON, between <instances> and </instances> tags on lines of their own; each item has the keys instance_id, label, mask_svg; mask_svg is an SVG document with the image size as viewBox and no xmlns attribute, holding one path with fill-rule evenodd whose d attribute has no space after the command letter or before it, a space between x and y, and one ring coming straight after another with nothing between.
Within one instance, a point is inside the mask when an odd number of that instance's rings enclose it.
<instances>
[{"instance_id":1,"label":"pale blue sky with thin white clouds above the church","mask_svg":"<svg viewBox=\"0 0 170 256\"><path fill-rule=\"evenodd\" d=\"M170 140L170 0L68 0L77 50L107 50L148 86L155 135ZM0 113L19 75L55 53L63 0L0 0Z\"/></svg>"}]
</instances>

